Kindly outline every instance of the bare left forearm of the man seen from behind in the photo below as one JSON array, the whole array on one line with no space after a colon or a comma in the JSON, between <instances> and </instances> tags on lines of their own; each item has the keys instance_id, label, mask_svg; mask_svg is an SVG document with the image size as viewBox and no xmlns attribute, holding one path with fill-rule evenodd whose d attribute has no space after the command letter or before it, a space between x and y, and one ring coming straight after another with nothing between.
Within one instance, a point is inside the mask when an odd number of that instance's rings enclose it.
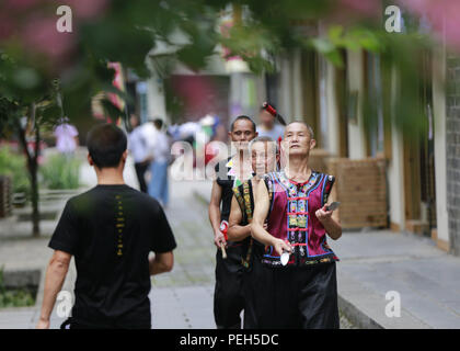
<instances>
[{"instance_id":1,"label":"bare left forearm of the man seen from behind","mask_svg":"<svg viewBox=\"0 0 460 351\"><path fill-rule=\"evenodd\" d=\"M57 294L60 292L72 256L70 253L56 250L53 254L48 268L46 269L45 290L43 296L42 312L39 315L37 329L49 328L49 316L56 303Z\"/></svg>"}]
</instances>

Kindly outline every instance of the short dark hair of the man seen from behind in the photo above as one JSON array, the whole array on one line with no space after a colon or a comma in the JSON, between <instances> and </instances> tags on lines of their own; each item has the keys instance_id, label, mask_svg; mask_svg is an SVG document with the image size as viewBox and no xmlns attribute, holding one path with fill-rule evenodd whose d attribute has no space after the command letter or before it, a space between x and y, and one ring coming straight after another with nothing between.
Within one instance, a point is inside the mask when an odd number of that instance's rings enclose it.
<instances>
[{"instance_id":1,"label":"short dark hair of the man seen from behind","mask_svg":"<svg viewBox=\"0 0 460 351\"><path fill-rule=\"evenodd\" d=\"M117 167L127 144L125 133L110 123L96 125L88 133L88 151L97 168Z\"/></svg>"}]
</instances>

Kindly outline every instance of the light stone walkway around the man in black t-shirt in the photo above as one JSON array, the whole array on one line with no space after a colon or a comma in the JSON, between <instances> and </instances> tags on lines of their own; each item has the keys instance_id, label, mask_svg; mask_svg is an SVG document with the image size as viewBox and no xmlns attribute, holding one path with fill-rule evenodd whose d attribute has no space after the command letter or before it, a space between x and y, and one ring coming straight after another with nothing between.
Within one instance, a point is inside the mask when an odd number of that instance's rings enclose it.
<instances>
[{"instance_id":1,"label":"light stone walkway around the man in black t-shirt","mask_svg":"<svg viewBox=\"0 0 460 351\"><path fill-rule=\"evenodd\" d=\"M91 169L83 167L85 185L94 185ZM128 166L126 181L137 188L131 167ZM152 279L150 299L152 306L152 327L169 328L203 328L214 329L212 295L214 269L216 249L211 239L206 201L196 196L197 193L210 193L210 182L183 181L171 182L171 204L166 208L174 231L177 249L174 251L175 263L172 272L160 274ZM57 219L57 218L56 218ZM43 226L43 236L31 239L28 229L22 227L20 236L10 235L3 223L0 223L0 265L7 271L23 271L39 269L42 282L34 307L8 308L0 310L0 329L34 328L38 319L43 299L45 269L51 256L47 248L49 237L56 225L49 220ZM14 227L14 220L10 226ZM7 233L5 233L7 231ZM72 292L76 279L73 260L62 290ZM56 315L56 307L51 315L51 328L58 328L64 318ZM343 328L353 328L345 319L341 319Z\"/></svg>"}]
</instances>

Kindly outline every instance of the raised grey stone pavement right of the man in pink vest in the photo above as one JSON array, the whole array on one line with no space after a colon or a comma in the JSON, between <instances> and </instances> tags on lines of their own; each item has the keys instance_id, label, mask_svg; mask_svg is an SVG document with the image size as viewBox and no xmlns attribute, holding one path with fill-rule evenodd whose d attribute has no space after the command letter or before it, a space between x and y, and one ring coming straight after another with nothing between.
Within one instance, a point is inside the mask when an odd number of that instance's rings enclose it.
<instances>
[{"instance_id":1,"label":"raised grey stone pavement right of the man in pink vest","mask_svg":"<svg viewBox=\"0 0 460 351\"><path fill-rule=\"evenodd\" d=\"M341 305L358 326L460 328L459 257L441 251L429 238L389 230L344 233L330 245L342 259ZM389 292L400 296L401 317L386 315L394 299L386 299Z\"/></svg>"}]
</instances>

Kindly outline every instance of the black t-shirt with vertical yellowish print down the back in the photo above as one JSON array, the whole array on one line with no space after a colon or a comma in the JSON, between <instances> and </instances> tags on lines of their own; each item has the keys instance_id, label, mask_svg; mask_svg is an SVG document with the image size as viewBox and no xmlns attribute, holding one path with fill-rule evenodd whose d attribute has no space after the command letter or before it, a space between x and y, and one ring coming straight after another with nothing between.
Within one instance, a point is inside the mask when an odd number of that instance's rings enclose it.
<instances>
[{"instance_id":1,"label":"black t-shirt with vertical yellowish print down the back","mask_svg":"<svg viewBox=\"0 0 460 351\"><path fill-rule=\"evenodd\" d=\"M154 199L128 185L96 185L67 202L49 247L74 256L76 322L151 327L148 256L176 247Z\"/></svg>"}]
</instances>

